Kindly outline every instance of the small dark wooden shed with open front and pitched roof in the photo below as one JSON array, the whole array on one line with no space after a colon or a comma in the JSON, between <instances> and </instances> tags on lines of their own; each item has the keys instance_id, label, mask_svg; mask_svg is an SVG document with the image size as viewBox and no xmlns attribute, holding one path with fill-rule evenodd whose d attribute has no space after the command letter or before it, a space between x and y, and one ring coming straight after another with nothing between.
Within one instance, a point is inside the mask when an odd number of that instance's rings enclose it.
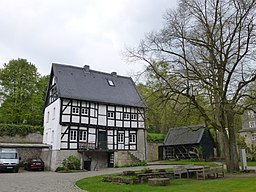
<instances>
[{"instance_id":1,"label":"small dark wooden shed with open front and pitched roof","mask_svg":"<svg viewBox=\"0 0 256 192\"><path fill-rule=\"evenodd\" d=\"M206 160L214 157L215 143L205 125L183 126L169 129L163 145L158 147L159 160Z\"/></svg>"}]
</instances>

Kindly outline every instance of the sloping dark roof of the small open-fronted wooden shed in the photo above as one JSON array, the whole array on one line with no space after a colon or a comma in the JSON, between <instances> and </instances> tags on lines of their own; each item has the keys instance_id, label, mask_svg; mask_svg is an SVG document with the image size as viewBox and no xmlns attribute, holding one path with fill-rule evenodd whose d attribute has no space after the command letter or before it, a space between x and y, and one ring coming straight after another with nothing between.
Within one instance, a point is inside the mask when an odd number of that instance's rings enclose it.
<instances>
[{"instance_id":1,"label":"sloping dark roof of the small open-fronted wooden shed","mask_svg":"<svg viewBox=\"0 0 256 192\"><path fill-rule=\"evenodd\" d=\"M205 129L205 125L171 128L165 137L164 145L198 144Z\"/></svg>"}]
</instances>

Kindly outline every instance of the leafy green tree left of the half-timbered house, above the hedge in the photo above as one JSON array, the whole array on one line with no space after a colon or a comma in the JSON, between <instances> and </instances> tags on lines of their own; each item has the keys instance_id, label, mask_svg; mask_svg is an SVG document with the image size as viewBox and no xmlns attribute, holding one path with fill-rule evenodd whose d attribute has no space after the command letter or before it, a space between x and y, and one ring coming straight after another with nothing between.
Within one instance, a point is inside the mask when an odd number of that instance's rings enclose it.
<instances>
[{"instance_id":1,"label":"leafy green tree left of the half-timbered house, above the hedge","mask_svg":"<svg viewBox=\"0 0 256 192\"><path fill-rule=\"evenodd\" d=\"M40 77L26 59L11 60L0 69L2 123L40 125L47 77Z\"/></svg>"}]
</instances>

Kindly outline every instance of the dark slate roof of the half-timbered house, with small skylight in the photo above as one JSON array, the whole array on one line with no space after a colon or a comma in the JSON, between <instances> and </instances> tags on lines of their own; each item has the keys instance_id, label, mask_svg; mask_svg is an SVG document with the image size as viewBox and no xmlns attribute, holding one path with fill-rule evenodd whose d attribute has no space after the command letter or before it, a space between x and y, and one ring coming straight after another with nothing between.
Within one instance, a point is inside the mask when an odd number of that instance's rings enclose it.
<instances>
[{"instance_id":1,"label":"dark slate roof of the half-timbered house, with small skylight","mask_svg":"<svg viewBox=\"0 0 256 192\"><path fill-rule=\"evenodd\" d=\"M90 70L89 66L52 65L61 98L146 107L130 77ZM108 80L113 81L110 86Z\"/></svg>"}]
</instances>

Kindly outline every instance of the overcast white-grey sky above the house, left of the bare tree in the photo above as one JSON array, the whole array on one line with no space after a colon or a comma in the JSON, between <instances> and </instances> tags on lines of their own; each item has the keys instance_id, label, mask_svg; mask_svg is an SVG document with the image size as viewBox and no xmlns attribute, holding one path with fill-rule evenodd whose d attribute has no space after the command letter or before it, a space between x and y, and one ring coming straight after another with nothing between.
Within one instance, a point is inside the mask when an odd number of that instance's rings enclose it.
<instances>
[{"instance_id":1,"label":"overcast white-grey sky above the house, left of the bare tree","mask_svg":"<svg viewBox=\"0 0 256 192\"><path fill-rule=\"evenodd\" d=\"M163 26L177 0L0 0L0 67L24 58L42 75L52 63L131 75L125 47Z\"/></svg>"}]
</instances>

